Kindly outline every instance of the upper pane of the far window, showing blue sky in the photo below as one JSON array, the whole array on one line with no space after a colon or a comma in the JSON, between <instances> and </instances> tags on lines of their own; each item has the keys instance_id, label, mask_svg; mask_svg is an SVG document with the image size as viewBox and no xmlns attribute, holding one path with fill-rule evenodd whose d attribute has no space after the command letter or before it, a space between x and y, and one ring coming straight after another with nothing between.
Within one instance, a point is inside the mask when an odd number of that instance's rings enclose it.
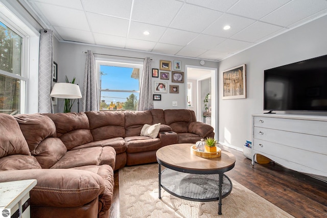
<instances>
[{"instance_id":1,"label":"upper pane of the far window, showing blue sky","mask_svg":"<svg viewBox=\"0 0 327 218\"><path fill-rule=\"evenodd\" d=\"M139 90L139 69L137 68L100 65L100 72L102 90Z\"/></svg>"}]
</instances>

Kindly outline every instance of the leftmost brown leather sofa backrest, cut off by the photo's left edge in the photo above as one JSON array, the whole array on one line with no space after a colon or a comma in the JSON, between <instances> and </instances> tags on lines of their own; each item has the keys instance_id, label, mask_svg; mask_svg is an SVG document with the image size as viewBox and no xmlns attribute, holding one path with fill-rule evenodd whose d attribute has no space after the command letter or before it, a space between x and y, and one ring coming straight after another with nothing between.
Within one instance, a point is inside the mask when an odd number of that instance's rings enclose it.
<instances>
[{"instance_id":1,"label":"leftmost brown leather sofa backrest, cut off by the photo's left edge","mask_svg":"<svg viewBox=\"0 0 327 218\"><path fill-rule=\"evenodd\" d=\"M0 114L0 170L39 168L15 118Z\"/></svg>"}]
</instances>

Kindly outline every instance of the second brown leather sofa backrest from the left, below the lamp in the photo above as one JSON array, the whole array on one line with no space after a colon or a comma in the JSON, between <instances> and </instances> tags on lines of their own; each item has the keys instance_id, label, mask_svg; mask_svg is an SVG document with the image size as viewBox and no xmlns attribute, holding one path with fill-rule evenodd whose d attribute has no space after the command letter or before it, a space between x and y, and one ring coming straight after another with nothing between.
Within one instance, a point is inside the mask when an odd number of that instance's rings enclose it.
<instances>
[{"instance_id":1,"label":"second brown leather sofa backrest from the left, below the lamp","mask_svg":"<svg viewBox=\"0 0 327 218\"><path fill-rule=\"evenodd\" d=\"M42 114L19 114L14 118L24 135L30 152L42 168L51 168L67 152L57 138L55 123Z\"/></svg>"}]
</instances>

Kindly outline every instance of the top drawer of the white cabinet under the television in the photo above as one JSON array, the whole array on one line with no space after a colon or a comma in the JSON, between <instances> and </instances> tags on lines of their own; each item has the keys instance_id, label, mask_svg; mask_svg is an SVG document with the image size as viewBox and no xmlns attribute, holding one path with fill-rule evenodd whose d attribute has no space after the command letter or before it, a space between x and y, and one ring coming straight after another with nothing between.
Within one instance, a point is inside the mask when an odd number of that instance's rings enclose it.
<instances>
[{"instance_id":1,"label":"top drawer of the white cabinet under the television","mask_svg":"<svg viewBox=\"0 0 327 218\"><path fill-rule=\"evenodd\" d=\"M275 117L253 117L253 125L327 137L327 122Z\"/></svg>"}]
</instances>

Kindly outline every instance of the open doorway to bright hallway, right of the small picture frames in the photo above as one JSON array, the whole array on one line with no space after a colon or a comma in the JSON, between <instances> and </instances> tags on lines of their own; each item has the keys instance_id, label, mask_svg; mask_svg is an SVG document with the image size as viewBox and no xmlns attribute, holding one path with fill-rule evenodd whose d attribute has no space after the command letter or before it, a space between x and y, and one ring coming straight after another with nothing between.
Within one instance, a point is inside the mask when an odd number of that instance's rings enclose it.
<instances>
[{"instance_id":1,"label":"open doorway to bright hallway, right of the small picture frames","mask_svg":"<svg viewBox=\"0 0 327 218\"><path fill-rule=\"evenodd\" d=\"M190 65L185 68L188 109L195 111L197 121L210 124L217 132L217 69ZM207 99L207 102L204 102L204 99Z\"/></svg>"}]
</instances>

